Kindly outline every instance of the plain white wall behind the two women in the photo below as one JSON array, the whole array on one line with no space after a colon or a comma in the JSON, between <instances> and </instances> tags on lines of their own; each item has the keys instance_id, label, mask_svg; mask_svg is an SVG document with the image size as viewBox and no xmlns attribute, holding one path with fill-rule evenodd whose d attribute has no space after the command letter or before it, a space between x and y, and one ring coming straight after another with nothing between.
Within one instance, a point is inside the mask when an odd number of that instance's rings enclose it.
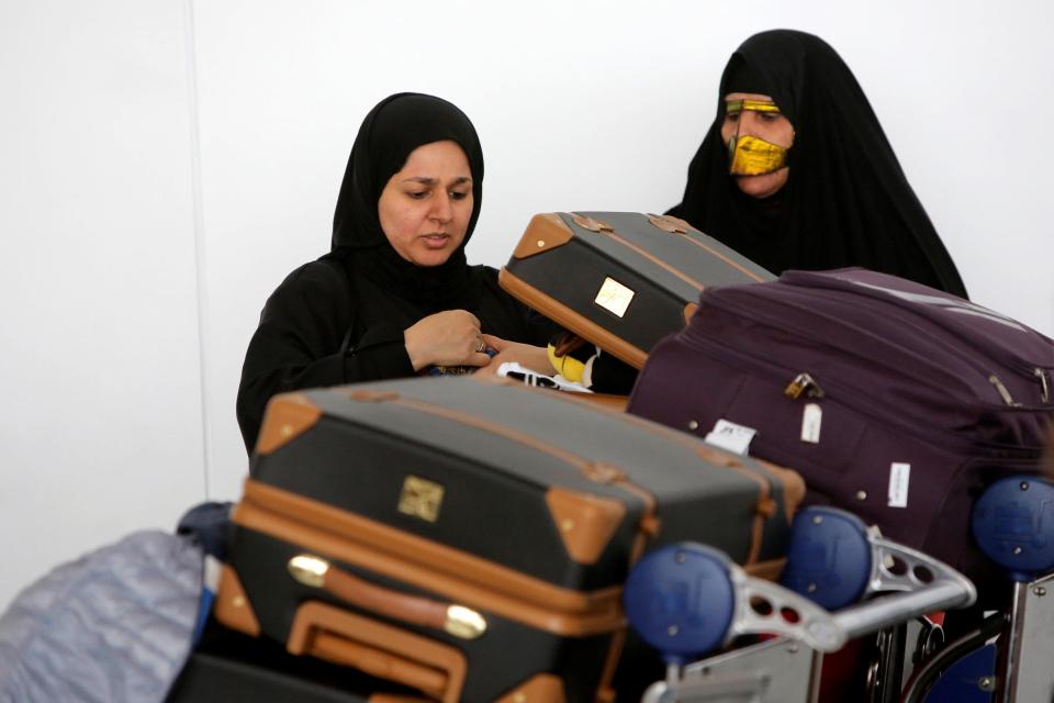
<instances>
[{"instance_id":1,"label":"plain white wall behind the two women","mask_svg":"<svg viewBox=\"0 0 1054 703\"><path fill-rule=\"evenodd\" d=\"M0 609L236 498L246 343L378 100L472 118L500 265L536 212L675 203L728 55L777 26L853 69L973 299L1054 334L1046 0L0 0Z\"/></svg>"}]
</instances>

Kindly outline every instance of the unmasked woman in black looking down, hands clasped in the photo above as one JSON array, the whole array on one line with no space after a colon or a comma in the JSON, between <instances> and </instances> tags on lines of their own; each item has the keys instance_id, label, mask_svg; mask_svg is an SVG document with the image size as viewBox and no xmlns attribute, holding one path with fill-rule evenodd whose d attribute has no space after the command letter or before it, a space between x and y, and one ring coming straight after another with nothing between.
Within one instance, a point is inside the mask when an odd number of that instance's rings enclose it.
<instances>
[{"instance_id":1,"label":"unmasked woman in black looking down, hands clasped","mask_svg":"<svg viewBox=\"0 0 1054 703\"><path fill-rule=\"evenodd\" d=\"M469 266L483 153L457 107L399 93L366 116L345 170L330 253L278 287L245 356L237 415L251 451L279 392L518 360L547 368L551 324ZM495 364L496 366L496 364Z\"/></svg>"}]
</instances>

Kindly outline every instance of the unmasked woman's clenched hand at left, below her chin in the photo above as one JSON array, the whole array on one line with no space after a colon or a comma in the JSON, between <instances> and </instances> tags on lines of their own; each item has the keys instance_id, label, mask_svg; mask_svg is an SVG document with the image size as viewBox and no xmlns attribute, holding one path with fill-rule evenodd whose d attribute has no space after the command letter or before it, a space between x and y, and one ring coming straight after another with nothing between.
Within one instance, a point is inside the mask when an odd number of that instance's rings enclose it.
<instances>
[{"instance_id":1,"label":"unmasked woman's clenched hand at left, below her chin","mask_svg":"<svg viewBox=\"0 0 1054 703\"><path fill-rule=\"evenodd\" d=\"M418 321L403 333L415 371L437 366L486 366L480 321L467 310L445 310ZM496 338L496 337L494 337Z\"/></svg>"}]
</instances>

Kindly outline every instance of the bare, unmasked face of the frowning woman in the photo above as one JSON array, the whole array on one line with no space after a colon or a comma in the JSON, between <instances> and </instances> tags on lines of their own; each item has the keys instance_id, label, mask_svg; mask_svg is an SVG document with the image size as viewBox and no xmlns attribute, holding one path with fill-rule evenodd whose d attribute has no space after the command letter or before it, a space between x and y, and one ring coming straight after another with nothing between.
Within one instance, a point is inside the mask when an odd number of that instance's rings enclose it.
<instances>
[{"instance_id":1,"label":"bare, unmasked face of the frowning woman","mask_svg":"<svg viewBox=\"0 0 1054 703\"><path fill-rule=\"evenodd\" d=\"M377 202L384 236L401 257L439 266L461 246L472 219L472 169L453 142L424 144L410 153Z\"/></svg>"}]
</instances>

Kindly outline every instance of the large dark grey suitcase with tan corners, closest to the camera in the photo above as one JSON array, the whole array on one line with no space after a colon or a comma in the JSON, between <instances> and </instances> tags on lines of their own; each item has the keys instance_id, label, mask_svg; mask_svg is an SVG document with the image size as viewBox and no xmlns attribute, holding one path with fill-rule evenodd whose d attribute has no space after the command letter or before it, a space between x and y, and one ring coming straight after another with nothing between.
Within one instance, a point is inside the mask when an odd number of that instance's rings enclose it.
<instances>
[{"instance_id":1,"label":"large dark grey suitcase with tan corners, closest to the camera","mask_svg":"<svg viewBox=\"0 0 1054 703\"><path fill-rule=\"evenodd\" d=\"M276 397L217 617L438 700L583 701L608 690L646 548L703 540L774 576L796 473L571 395L461 377Z\"/></svg>"}]
</instances>

